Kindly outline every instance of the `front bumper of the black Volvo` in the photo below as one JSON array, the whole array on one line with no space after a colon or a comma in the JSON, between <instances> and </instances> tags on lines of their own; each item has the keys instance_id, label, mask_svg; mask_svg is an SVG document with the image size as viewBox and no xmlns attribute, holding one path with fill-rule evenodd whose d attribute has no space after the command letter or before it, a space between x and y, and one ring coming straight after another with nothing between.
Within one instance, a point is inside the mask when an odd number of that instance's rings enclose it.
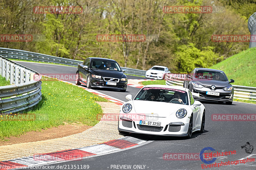
<instances>
[{"instance_id":1,"label":"front bumper of the black Volvo","mask_svg":"<svg viewBox=\"0 0 256 170\"><path fill-rule=\"evenodd\" d=\"M106 83L107 82L104 80L91 78L91 86L95 88L109 88L109 89L118 89L118 90L124 90L127 88L127 81L115 82L116 85L107 85Z\"/></svg>"}]
</instances>

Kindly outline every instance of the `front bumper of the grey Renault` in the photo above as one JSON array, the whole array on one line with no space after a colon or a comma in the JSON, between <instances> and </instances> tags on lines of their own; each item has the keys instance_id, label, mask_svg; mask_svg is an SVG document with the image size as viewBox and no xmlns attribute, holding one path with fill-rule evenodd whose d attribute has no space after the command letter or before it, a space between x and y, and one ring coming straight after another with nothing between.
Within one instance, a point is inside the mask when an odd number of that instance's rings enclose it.
<instances>
[{"instance_id":1,"label":"front bumper of the grey Renault","mask_svg":"<svg viewBox=\"0 0 256 170\"><path fill-rule=\"evenodd\" d=\"M208 95L206 92L219 92L219 96L214 96L214 95ZM216 89L212 91L211 89L207 87L203 88L197 88L193 87L192 92L199 93L199 98L195 97L195 99L200 99L200 100L211 100L211 101L233 101L234 97L234 90L232 89L231 91L225 91L223 89Z\"/></svg>"}]
</instances>

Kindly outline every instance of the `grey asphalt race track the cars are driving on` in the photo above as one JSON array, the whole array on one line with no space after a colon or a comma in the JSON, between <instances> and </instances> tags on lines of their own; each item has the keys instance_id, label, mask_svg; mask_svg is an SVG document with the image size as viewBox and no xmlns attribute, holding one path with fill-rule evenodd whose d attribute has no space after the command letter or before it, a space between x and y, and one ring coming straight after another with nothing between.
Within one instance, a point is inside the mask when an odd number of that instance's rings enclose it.
<instances>
[{"instance_id":1,"label":"grey asphalt race track the cars are driving on","mask_svg":"<svg viewBox=\"0 0 256 170\"><path fill-rule=\"evenodd\" d=\"M59 65L23 62L20 62L20 64L36 70L39 73L74 73L74 71L76 71L74 67ZM138 88L128 87L127 92L99 91L116 97L117 99L127 101L124 99L125 95L132 94L134 96L139 90ZM86 158L80 161L54 163L52 165L55 166L55 169L57 169L58 165L65 165L67 167L68 165L69 167L71 167L71 165L79 165L79 167L81 167L81 165L89 165L89 169L126 169L120 168L120 166L131 165L130 169L194 170L202 169L201 164L203 164L203 162L201 160L164 160L164 153L199 153L204 147L212 147L218 152L236 151L235 155L218 157L215 161L216 163L220 163L221 161L236 161L249 157L251 154L256 155L256 150L253 150L252 153L249 154L246 153L244 149L241 149L241 146L245 145L246 142L250 142L252 146L256 147L255 122L216 122L211 120L212 114L255 114L256 105L240 102L233 102L233 105L208 101L202 101L202 103L206 108L205 130L203 134L193 133L191 139L132 134L131 136L153 140L153 142L116 153ZM251 155L250 157L256 158L255 155ZM44 169L47 169L47 167L44 167ZM220 166L219 168L208 167L207 169L256 169L256 162L246 164L239 163L236 166Z\"/></svg>"}]
</instances>

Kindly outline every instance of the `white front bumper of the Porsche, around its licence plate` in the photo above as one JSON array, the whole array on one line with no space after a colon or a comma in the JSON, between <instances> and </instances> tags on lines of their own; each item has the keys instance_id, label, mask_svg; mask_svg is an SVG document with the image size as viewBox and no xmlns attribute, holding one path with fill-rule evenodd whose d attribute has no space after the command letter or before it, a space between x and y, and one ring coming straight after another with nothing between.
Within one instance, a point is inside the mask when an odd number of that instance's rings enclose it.
<instances>
[{"instance_id":1,"label":"white front bumper of the Porsche, around its licence plate","mask_svg":"<svg viewBox=\"0 0 256 170\"><path fill-rule=\"evenodd\" d=\"M122 116L124 116L122 114ZM188 115L184 118L177 118L175 114L170 115L170 117L153 117L153 116L144 116L145 121L152 122L161 122L160 127L140 125L140 120L121 120L119 116L118 121L118 130L139 133L139 134L148 134L148 135L161 135L161 136L188 136L188 124L189 117ZM172 122L182 122L184 125L170 124ZM196 129L198 130L198 129Z\"/></svg>"}]
</instances>

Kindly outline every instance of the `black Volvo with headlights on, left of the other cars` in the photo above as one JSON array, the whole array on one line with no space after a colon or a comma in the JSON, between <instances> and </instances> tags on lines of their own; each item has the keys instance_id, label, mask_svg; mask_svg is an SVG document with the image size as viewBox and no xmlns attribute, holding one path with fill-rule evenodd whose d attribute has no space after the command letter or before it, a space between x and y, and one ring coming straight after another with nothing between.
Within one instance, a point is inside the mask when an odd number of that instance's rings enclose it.
<instances>
[{"instance_id":1,"label":"black Volvo with headlights on, left of the other cars","mask_svg":"<svg viewBox=\"0 0 256 170\"><path fill-rule=\"evenodd\" d=\"M84 84L87 88L111 88L126 91L127 77L115 60L89 57L78 64L76 85Z\"/></svg>"}]
</instances>

